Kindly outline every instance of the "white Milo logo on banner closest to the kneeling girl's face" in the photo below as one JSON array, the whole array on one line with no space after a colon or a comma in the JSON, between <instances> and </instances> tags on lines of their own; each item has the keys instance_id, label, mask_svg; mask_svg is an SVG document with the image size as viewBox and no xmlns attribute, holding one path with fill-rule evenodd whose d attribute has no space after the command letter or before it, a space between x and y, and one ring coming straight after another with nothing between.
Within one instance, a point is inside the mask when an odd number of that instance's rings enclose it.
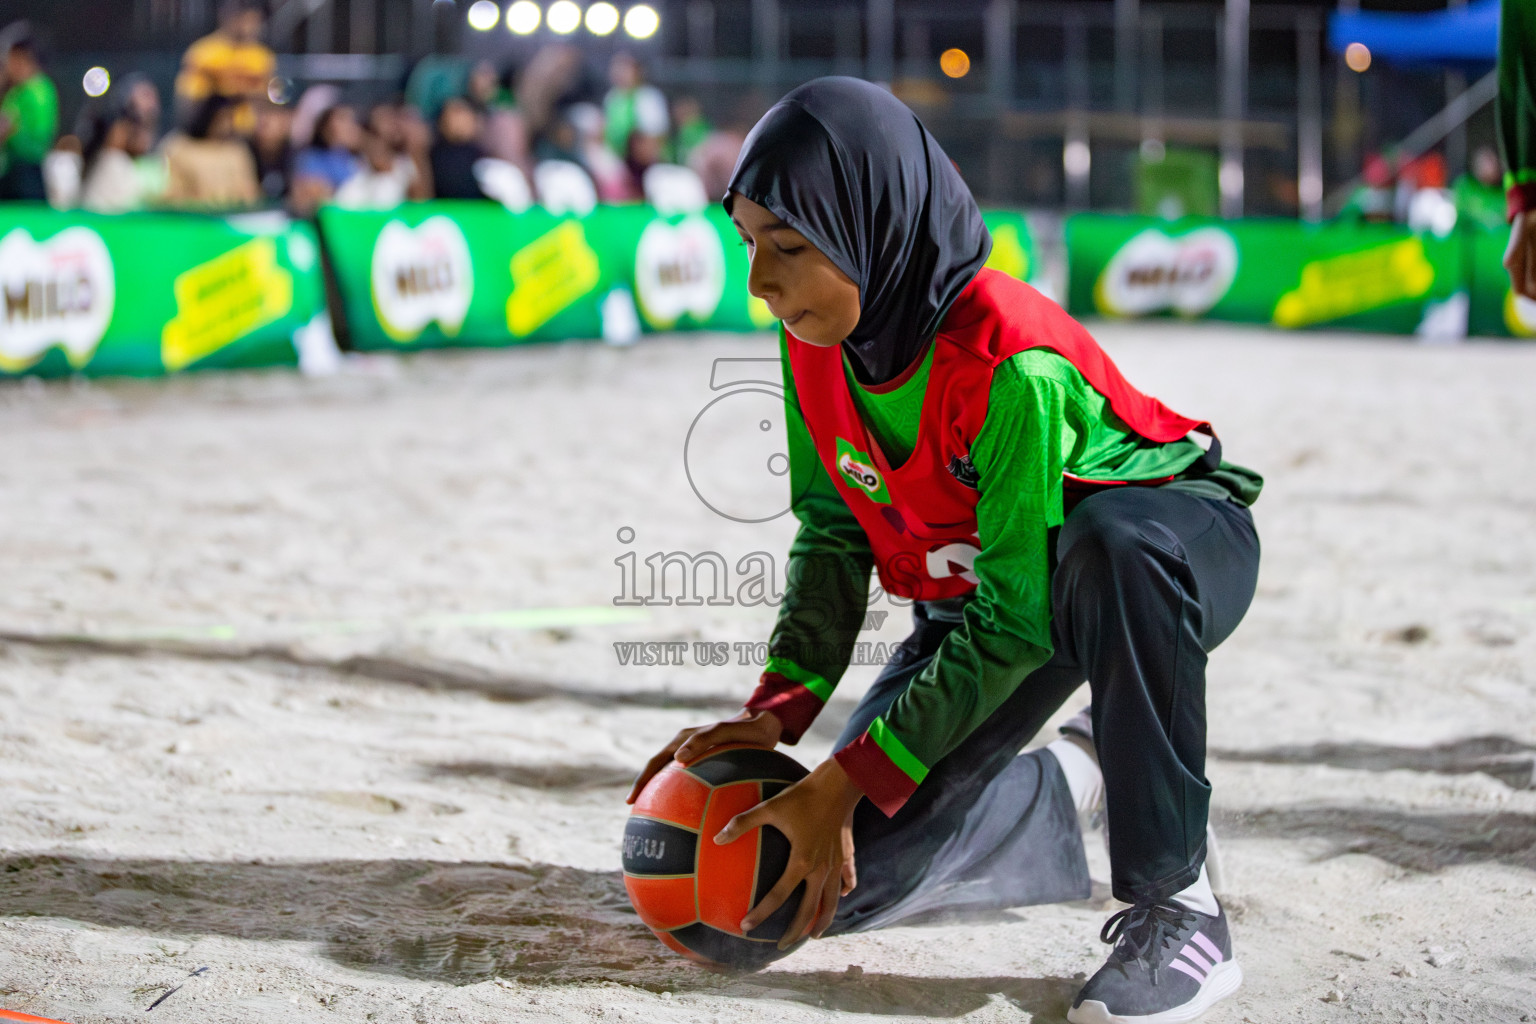
<instances>
[{"instance_id":1,"label":"white Milo logo on banner closest to the kneeling girl's face","mask_svg":"<svg viewBox=\"0 0 1536 1024\"><path fill-rule=\"evenodd\" d=\"M684 313L708 319L725 295L725 249L710 221L651 221L634 250L634 292L651 327L671 327Z\"/></svg>"}]
</instances>

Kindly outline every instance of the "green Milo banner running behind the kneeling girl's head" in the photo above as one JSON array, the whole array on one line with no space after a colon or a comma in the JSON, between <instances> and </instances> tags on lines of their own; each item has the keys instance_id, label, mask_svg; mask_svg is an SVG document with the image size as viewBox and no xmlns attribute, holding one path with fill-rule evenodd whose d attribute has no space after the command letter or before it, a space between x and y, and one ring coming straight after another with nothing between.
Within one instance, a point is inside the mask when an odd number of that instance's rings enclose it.
<instances>
[{"instance_id":1,"label":"green Milo banner running behind the kneeling girl's head","mask_svg":"<svg viewBox=\"0 0 1536 1024\"><path fill-rule=\"evenodd\" d=\"M988 213L988 266L1037 267L1021 213ZM347 341L361 350L511 345L621 330L773 327L746 290L746 255L725 212L659 216L645 206L556 216L488 203L324 209L326 255Z\"/></svg>"}]
</instances>

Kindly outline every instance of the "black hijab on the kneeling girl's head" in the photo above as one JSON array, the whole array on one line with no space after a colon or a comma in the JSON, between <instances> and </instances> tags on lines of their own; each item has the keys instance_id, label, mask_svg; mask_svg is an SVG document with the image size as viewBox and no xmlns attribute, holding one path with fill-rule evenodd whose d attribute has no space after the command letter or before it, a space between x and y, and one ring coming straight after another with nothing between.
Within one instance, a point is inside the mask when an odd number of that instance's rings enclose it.
<instances>
[{"instance_id":1,"label":"black hijab on the kneeling girl's head","mask_svg":"<svg viewBox=\"0 0 1536 1024\"><path fill-rule=\"evenodd\" d=\"M992 250L938 141L859 78L817 78L774 104L746 137L730 192L771 210L859 286L843 350L865 384L911 365Z\"/></svg>"}]
</instances>

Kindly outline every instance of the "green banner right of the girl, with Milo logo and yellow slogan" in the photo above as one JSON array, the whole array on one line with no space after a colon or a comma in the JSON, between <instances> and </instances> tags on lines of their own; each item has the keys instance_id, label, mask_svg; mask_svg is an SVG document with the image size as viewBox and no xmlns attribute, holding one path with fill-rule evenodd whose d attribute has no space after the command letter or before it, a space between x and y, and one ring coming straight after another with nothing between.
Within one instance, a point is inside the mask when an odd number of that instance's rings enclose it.
<instances>
[{"instance_id":1,"label":"green banner right of the girl, with Milo logo and yellow slogan","mask_svg":"<svg viewBox=\"0 0 1536 1024\"><path fill-rule=\"evenodd\" d=\"M1068 218L1068 310L1412 335L1465 301L1461 235L1390 224Z\"/></svg>"}]
</instances>

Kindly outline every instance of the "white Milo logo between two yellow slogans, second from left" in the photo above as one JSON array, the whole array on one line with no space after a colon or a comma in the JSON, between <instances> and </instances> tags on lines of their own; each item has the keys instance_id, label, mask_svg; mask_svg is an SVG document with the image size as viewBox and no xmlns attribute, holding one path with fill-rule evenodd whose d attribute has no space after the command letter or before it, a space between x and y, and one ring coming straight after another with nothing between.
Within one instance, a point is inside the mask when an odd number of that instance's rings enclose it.
<instances>
[{"instance_id":1,"label":"white Milo logo between two yellow slogans, second from left","mask_svg":"<svg viewBox=\"0 0 1536 1024\"><path fill-rule=\"evenodd\" d=\"M447 216L416 227L390 221L373 243L370 281L373 312L392 339L412 341L433 321L444 335L459 333L475 295L464 232Z\"/></svg>"}]
</instances>

